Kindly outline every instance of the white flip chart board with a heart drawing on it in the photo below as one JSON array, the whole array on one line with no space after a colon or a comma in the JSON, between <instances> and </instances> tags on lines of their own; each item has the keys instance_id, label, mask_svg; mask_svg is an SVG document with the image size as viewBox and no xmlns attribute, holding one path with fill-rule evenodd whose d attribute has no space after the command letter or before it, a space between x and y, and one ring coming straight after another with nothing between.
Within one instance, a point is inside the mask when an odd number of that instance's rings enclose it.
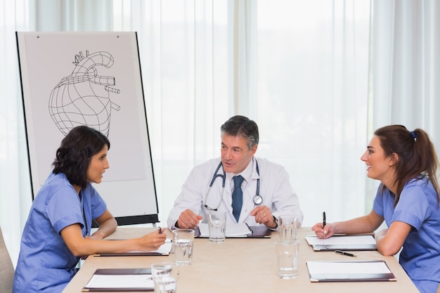
<instances>
[{"instance_id":1,"label":"white flip chart board with a heart drawing on it","mask_svg":"<svg viewBox=\"0 0 440 293\"><path fill-rule=\"evenodd\" d=\"M16 37L32 199L52 171L60 141L73 127L87 125L111 141L110 169L93 186L118 224L156 223L136 32L17 32Z\"/></svg>"}]
</instances>

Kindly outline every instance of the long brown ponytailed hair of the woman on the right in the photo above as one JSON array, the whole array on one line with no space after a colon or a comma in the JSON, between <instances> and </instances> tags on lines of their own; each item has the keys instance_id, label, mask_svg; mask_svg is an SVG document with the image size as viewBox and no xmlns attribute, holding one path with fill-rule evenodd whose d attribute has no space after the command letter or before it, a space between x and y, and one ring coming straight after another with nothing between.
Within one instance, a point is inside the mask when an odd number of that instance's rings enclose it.
<instances>
[{"instance_id":1,"label":"long brown ponytailed hair of the woman on the right","mask_svg":"<svg viewBox=\"0 0 440 293\"><path fill-rule=\"evenodd\" d=\"M387 157L396 153L399 159L396 162L396 199L394 207L399 202L403 186L410 179L417 179L420 176L427 177L434 186L437 194L437 203L440 202L439 183L436 178L436 171L439 161L435 152L434 144L428 134L422 129L408 131L402 125L384 126L375 131L375 136L380 140ZM385 188L383 185L382 188Z\"/></svg>"}]
</instances>

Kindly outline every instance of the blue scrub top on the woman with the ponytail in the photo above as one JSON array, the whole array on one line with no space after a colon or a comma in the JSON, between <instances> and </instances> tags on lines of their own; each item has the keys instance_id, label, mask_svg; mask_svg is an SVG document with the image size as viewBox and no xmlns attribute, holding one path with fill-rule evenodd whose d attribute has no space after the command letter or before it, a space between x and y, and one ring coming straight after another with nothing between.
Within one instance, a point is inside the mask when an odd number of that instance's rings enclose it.
<instances>
[{"instance_id":1,"label":"blue scrub top on the woman with the ponytail","mask_svg":"<svg viewBox=\"0 0 440 293\"><path fill-rule=\"evenodd\" d=\"M394 208L394 195L378 191L373 209L388 226L401 221L412 226L399 262L420 292L436 292L440 282L440 208L427 178L411 179ZM380 186L380 188L382 185Z\"/></svg>"}]
</instances>

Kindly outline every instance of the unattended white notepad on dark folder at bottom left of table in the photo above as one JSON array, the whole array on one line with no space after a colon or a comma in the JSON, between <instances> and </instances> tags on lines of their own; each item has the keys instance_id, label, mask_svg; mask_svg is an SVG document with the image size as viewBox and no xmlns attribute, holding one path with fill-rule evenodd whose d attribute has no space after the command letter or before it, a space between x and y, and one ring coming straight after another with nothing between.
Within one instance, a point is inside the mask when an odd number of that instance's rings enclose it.
<instances>
[{"instance_id":1,"label":"unattended white notepad on dark folder at bottom left of table","mask_svg":"<svg viewBox=\"0 0 440 293\"><path fill-rule=\"evenodd\" d=\"M99 268L82 292L154 291L150 268Z\"/></svg>"}]
</instances>

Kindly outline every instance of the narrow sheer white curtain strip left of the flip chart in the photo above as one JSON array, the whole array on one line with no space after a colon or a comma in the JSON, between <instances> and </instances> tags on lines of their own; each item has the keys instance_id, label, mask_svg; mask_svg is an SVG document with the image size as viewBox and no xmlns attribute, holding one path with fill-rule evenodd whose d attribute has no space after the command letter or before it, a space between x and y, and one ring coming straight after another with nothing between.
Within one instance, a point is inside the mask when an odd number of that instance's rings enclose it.
<instances>
[{"instance_id":1,"label":"narrow sheer white curtain strip left of the flip chart","mask_svg":"<svg viewBox=\"0 0 440 293\"><path fill-rule=\"evenodd\" d=\"M0 225L15 263L31 204L15 31L30 30L28 1L0 1Z\"/></svg>"}]
</instances>

